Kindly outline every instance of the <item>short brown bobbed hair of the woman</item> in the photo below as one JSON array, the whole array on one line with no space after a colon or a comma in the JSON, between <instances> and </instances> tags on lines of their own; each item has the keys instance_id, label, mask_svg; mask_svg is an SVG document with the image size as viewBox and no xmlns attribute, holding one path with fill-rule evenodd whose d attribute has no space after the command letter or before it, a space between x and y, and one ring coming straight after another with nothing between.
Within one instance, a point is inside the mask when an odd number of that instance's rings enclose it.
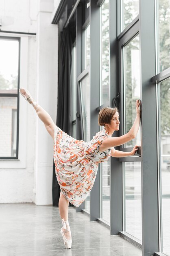
<instances>
[{"instance_id":1,"label":"short brown bobbed hair of the woman","mask_svg":"<svg viewBox=\"0 0 170 256\"><path fill-rule=\"evenodd\" d=\"M105 124L111 124L113 115L118 112L117 108L102 108L98 115L98 124L104 126Z\"/></svg>"}]
</instances>

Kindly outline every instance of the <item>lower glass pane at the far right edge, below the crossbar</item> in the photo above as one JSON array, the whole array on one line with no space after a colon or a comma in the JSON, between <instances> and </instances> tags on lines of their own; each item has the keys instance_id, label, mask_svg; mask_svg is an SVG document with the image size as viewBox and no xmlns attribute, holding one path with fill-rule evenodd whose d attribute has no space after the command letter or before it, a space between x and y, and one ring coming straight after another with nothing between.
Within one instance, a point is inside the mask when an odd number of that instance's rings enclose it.
<instances>
[{"instance_id":1,"label":"lower glass pane at the far right edge, below the crossbar","mask_svg":"<svg viewBox=\"0 0 170 256\"><path fill-rule=\"evenodd\" d=\"M160 103L162 251L170 255L170 79L160 83Z\"/></svg>"}]
</instances>

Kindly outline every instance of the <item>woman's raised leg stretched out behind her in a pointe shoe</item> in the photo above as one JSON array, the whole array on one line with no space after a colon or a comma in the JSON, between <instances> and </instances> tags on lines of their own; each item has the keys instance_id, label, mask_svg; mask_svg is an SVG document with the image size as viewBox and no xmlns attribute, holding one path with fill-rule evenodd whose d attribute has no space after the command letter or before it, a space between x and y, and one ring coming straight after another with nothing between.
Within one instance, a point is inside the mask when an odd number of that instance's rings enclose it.
<instances>
[{"instance_id":1,"label":"woman's raised leg stretched out behind her in a pointe shoe","mask_svg":"<svg viewBox=\"0 0 170 256\"><path fill-rule=\"evenodd\" d=\"M52 120L50 115L46 112L46 110L44 110L41 106L37 104L37 102L33 99L33 97L31 97L31 94L26 89L20 88L19 91L24 99L26 99L26 101L28 101L33 106L33 108L37 112L39 119L41 119L47 131L54 139L54 128L56 125L54 124L54 121Z\"/></svg>"}]
</instances>

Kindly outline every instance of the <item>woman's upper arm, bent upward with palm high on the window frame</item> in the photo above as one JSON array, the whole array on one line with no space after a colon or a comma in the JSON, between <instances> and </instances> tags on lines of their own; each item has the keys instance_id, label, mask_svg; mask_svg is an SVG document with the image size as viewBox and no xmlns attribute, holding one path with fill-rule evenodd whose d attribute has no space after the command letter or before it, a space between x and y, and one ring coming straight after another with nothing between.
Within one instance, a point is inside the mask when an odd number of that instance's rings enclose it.
<instances>
[{"instance_id":1,"label":"woman's upper arm, bent upward with palm high on the window frame","mask_svg":"<svg viewBox=\"0 0 170 256\"><path fill-rule=\"evenodd\" d=\"M112 137L112 138L108 138L108 139L105 139L104 141L102 141L102 151L105 151L105 150L107 150L108 148L111 148L111 147L116 147L116 146L120 146L122 144L125 144L125 143L131 141L132 139L134 139L136 137L137 132L139 130L139 126L140 126L139 106L140 106L140 101L137 100L136 101L136 118L135 118L133 126L131 127L129 132L126 133L125 135L120 136L120 137Z\"/></svg>"}]
</instances>

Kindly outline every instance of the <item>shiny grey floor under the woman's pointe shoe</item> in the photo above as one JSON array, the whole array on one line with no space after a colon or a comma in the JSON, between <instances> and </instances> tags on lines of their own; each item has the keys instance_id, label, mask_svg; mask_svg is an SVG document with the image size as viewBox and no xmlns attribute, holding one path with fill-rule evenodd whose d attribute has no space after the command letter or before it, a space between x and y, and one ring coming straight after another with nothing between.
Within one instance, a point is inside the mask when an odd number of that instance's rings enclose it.
<instances>
[{"instance_id":1,"label":"shiny grey floor under the woman's pointe shoe","mask_svg":"<svg viewBox=\"0 0 170 256\"><path fill-rule=\"evenodd\" d=\"M0 204L0 256L142 256L142 251L109 229L69 208L72 249L60 234L58 207Z\"/></svg>"}]
</instances>

